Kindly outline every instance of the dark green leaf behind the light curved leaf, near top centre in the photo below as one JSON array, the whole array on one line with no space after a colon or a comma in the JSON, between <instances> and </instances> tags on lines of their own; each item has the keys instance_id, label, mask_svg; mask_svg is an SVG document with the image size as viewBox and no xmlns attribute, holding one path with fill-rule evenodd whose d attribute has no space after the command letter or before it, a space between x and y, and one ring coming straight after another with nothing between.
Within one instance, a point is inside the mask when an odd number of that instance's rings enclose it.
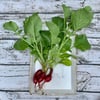
<instances>
[{"instance_id":1,"label":"dark green leaf behind the light curved leaf, near top centre","mask_svg":"<svg viewBox=\"0 0 100 100\"><path fill-rule=\"evenodd\" d=\"M64 30L64 18L57 16L53 17L52 21L59 27L60 31Z\"/></svg>"}]
</instances>

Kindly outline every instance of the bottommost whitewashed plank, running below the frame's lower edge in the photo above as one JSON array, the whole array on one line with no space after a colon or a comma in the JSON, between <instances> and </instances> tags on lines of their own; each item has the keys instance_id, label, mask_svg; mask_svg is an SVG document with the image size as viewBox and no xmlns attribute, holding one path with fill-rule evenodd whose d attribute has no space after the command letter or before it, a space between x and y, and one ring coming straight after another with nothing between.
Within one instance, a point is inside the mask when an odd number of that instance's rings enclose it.
<instances>
[{"instance_id":1,"label":"bottommost whitewashed plank, running below the frame's lower edge","mask_svg":"<svg viewBox=\"0 0 100 100\"><path fill-rule=\"evenodd\" d=\"M100 100L99 93L77 93L68 96L39 96L29 92L0 92L1 100Z\"/></svg>"}]
</instances>

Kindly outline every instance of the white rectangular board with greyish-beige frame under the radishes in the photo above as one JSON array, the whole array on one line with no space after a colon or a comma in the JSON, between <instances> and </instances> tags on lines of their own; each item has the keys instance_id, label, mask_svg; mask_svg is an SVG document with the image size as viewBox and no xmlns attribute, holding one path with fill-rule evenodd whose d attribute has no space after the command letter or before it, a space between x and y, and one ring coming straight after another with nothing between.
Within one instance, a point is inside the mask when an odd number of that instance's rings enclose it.
<instances>
[{"instance_id":1,"label":"white rectangular board with greyish-beige frame under the radishes","mask_svg":"<svg viewBox=\"0 0 100 100\"><path fill-rule=\"evenodd\" d=\"M73 50L73 54L75 50ZM35 66L35 67L34 67ZM34 57L31 56L30 62L30 93L35 93L33 84L34 72L41 68L38 61L34 63ZM76 60L72 58L72 66L58 64L53 69L52 80L44 85L44 94L49 96L62 96L74 94L76 92Z\"/></svg>"}]
</instances>

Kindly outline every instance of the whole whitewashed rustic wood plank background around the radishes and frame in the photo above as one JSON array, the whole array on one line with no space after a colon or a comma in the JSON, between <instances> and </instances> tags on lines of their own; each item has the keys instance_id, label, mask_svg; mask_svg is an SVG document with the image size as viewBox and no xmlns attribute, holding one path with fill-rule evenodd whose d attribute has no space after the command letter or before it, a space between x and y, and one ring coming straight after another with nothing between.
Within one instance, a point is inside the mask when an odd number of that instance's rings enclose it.
<instances>
[{"instance_id":1,"label":"whole whitewashed rustic wood plank background around the radishes and frame","mask_svg":"<svg viewBox=\"0 0 100 100\"><path fill-rule=\"evenodd\" d=\"M49 20L61 15L62 3L73 9L90 5L94 19L87 29L92 49L81 57L77 68L77 94L65 97L37 96L29 94L29 53L13 49L18 37L4 31L2 24L13 20L22 27L22 21L33 12ZM0 100L100 100L100 0L0 0Z\"/></svg>"}]
</instances>

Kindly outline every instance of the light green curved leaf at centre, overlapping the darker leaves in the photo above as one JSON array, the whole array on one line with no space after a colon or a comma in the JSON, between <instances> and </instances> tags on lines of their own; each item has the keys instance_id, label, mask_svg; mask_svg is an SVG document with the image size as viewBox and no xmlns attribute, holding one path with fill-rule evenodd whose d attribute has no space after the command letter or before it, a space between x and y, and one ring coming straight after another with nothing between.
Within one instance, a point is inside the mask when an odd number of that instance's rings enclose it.
<instances>
[{"instance_id":1,"label":"light green curved leaf at centre, overlapping the darker leaves","mask_svg":"<svg viewBox=\"0 0 100 100\"><path fill-rule=\"evenodd\" d=\"M51 44L56 44L56 43L59 43L60 40L58 38L58 35L59 35L59 27L53 23L53 22L46 22L46 25L51 33Z\"/></svg>"}]
</instances>

